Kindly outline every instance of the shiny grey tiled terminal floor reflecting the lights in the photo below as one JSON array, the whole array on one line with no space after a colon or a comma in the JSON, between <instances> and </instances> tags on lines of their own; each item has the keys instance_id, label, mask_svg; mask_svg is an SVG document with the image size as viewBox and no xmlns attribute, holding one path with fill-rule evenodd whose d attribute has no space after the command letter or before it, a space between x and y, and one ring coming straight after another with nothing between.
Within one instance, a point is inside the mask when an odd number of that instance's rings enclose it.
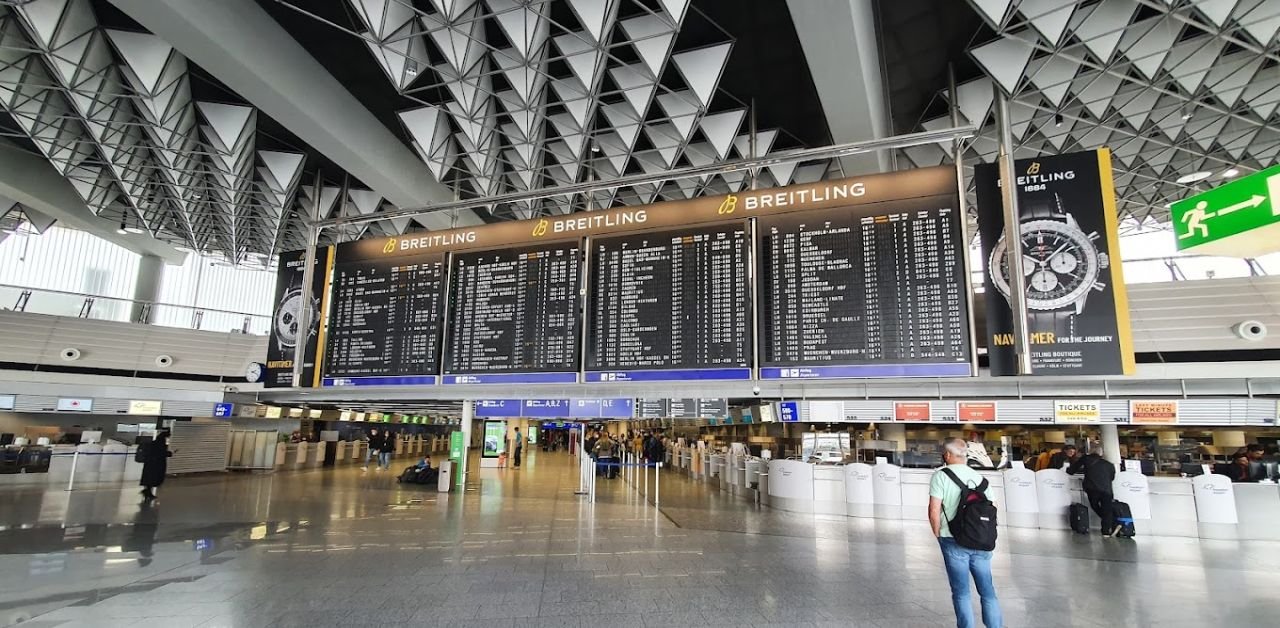
<instances>
[{"instance_id":1,"label":"shiny grey tiled terminal floor reflecting the lights","mask_svg":"<svg viewBox=\"0 0 1280 628\"><path fill-rule=\"evenodd\" d=\"M954 625L924 524L671 472L660 508L639 481L576 489L563 453L444 495L357 468L177 478L150 508L3 489L0 625ZM1280 544L1009 530L993 564L1009 627L1280 623Z\"/></svg>"}]
</instances>

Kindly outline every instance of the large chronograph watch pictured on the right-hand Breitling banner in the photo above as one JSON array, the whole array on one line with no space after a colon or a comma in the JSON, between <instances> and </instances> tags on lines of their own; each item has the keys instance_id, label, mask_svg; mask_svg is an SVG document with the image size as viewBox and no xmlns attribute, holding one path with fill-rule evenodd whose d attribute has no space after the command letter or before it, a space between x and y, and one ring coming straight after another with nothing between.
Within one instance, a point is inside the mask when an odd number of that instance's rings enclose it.
<instances>
[{"instance_id":1,"label":"large chronograph watch pictured on the right-hand Breitling banner","mask_svg":"<svg viewBox=\"0 0 1280 628\"><path fill-rule=\"evenodd\" d=\"M1033 311L1070 311L1080 313L1091 290L1102 290L1106 284L1101 274L1108 260L1100 253L1094 242L1100 235L1084 233L1075 219L1061 211L1061 200L1055 219L1024 220L1019 225L1023 247L1023 274L1027 285L1027 308ZM1001 237L991 251L988 269L992 284L1009 299L1009 256Z\"/></svg>"}]
</instances>

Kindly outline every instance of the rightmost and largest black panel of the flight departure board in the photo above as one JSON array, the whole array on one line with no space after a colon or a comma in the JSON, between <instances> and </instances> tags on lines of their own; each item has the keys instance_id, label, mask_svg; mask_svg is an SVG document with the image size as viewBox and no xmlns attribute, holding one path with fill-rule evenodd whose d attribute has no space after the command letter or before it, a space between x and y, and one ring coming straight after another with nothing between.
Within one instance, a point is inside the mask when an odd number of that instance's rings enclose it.
<instances>
[{"instance_id":1,"label":"rightmost and largest black panel of the flight departure board","mask_svg":"<svg viewBox=\"0 0 1280 628\"><path fill-rule=\"evenodd\" d=\"M972 375L954 196L758 220L762 379Z\"/></svg>"}]
</instances>

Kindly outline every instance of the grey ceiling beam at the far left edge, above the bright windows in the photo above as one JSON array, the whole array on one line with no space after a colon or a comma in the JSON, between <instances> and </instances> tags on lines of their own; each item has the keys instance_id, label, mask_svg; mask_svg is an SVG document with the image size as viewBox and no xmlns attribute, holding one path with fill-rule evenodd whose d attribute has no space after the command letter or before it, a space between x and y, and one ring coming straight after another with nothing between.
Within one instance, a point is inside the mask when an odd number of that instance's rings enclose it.
<instances>
[{"instance_id":1,"label":"grey ceiling beam at the far left edge, above the bright windows","mask_svg":"<svg viewBox=\"0 0 1280 628\"><path fill-rule=\"evenodd\" d=\"M41 155L27 152L0 139L0 197L19 202L64 226L92 233L138 255L182 263L187 253L150 235L118 234L119 223L99 217L52 164Z\"/></svg>"}]
</instances>

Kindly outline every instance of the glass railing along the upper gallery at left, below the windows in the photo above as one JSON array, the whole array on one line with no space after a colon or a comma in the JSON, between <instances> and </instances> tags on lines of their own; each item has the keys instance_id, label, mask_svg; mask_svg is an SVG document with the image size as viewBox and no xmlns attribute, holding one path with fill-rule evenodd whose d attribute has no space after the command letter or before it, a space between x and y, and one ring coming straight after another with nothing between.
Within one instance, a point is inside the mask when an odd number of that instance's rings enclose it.
<instances>
[{"instance_id":1,"label":"glass railing along the upper gallery at left, below the windows","mask_svg":"<svg viewBox=\"0 0 1280 628\"><path fill-rule=\"evenodd\" d=\"M266 335L271 330L268 315L8 284L0 284L0 308L202 331Z\"/></svg>"}]
</instances>

